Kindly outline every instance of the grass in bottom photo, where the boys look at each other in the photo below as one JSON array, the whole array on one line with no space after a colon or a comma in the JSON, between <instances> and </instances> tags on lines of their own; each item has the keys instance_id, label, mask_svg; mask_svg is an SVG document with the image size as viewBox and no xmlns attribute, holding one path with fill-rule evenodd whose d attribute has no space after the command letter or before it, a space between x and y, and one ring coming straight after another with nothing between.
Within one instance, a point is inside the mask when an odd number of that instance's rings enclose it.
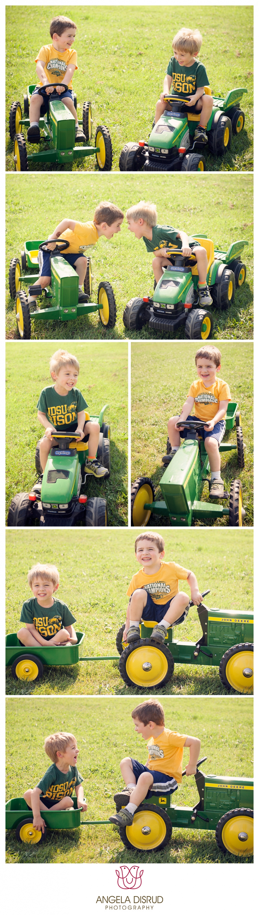
<instances>
[{"instance_id":1,"label":"grass in bottom photo, where the boys look at each other","mask_svg":"<svg viewBox=\"0 0 259 915\"><path fill-rule=\"evenodd\" d=\"M88 811L82 820L106 820L114 813L113 794L121 790L119 761L132 756L146 763L146 743L134 732L131 711L134 699L107 697L7 699L6 799L22 796L34 787L49 760L44 738L58 730L70 731L78 739L78 770L84 777ZM201 758L205 774L251 777L253 773L253 700L163 699L165 725L181 734L202 740ZM105 749L104 749L105 748ZM189 759L184 750L183 768ZM183 778L173 802L193 806L198 792L193 777ZM155 854L128 851L117 827L80 826L71 831L47 830L43 845L21 845L14 830L6 834L9 864L245 864L252 857L236 858L218 849L213 831L173 829L171 842Z\"/></svg>"}]
</instances>

